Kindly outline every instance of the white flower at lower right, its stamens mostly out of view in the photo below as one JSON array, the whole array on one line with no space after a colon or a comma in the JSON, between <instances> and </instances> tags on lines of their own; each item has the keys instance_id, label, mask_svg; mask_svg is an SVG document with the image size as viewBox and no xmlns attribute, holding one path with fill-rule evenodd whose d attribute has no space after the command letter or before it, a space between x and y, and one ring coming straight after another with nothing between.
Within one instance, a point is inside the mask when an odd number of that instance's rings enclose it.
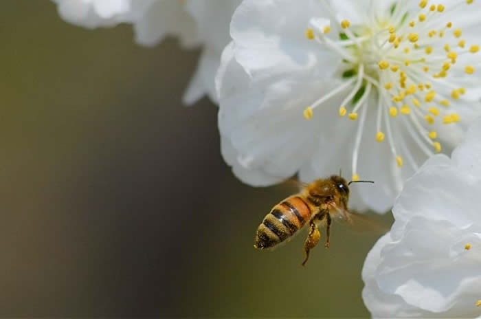
<instances>
[{"instance_id":1,"label":"white flower at lower right, its stamens mostly out of view","mask_svg":"<svg viewBox=\"0 0 481 319\"><path fill-rule=\"evenodd\" d=\"M363 299L374 317L481 316L481 120L454 151L431 157L368 254Z\"/></svg>"}]
</instances>

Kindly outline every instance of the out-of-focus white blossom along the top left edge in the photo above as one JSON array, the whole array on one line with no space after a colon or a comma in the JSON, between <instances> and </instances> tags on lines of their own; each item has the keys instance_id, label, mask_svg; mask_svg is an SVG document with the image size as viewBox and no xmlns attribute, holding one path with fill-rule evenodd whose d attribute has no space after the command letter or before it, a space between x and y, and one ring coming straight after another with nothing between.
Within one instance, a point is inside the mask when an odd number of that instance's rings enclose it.
<instances>
[{"instance_id":1,"label":"out-of-focus white blossom along the top left edge","mask_svg":"<svg viewBox=\"0 0 481 319\"><path fill-rule=\"evenodd\" d=\"M52 0L60 17L85 28L133 24L135 41L157 45L177 36L186 48L203 45L190 86L183 97L192 104L205 94L217 102L214 76L223 47L230 41L229 23L240 0Z\"/></svg>"}]
</instances>

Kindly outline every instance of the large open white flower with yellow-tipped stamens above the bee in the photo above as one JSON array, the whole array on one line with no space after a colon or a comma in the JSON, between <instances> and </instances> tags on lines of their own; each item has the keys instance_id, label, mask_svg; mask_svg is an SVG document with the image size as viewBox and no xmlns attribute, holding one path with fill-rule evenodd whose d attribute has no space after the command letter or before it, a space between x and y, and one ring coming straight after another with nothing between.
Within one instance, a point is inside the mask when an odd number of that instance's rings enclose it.
<instances>
[{"instance_id":1,"label":"large open white flower with yellow-tipped stamens above the bee","mask_svg":"<svg viewBox=\"0 0 481 319\"><path fill-rule=\"evenodd\" d=\"M481 111L471 2L243 1L216 79L226 162L256 186L342 168L376 183L353 206L385 212Z\"/></svg>"}]
</instances>

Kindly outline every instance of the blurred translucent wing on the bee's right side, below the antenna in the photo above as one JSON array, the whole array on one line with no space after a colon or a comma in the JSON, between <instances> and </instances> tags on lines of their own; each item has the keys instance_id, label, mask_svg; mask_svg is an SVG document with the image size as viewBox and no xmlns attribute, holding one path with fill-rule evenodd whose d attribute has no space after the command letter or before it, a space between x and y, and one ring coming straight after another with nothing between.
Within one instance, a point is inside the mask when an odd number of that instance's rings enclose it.
<instances>
[{"instance_id":1,"label":"blurred translucent wing on the bee's right side, below the antenna","mask_svg":"<svg viewBox=\"0 0 481 319\"><path fill-rule=\"evenodd\" d=\"M378 214L360 214L353 210L341 214L341 223L348 224L350 230L358 234L385 234L390 229L385 217Z\"/></svg>"}]
</instances>

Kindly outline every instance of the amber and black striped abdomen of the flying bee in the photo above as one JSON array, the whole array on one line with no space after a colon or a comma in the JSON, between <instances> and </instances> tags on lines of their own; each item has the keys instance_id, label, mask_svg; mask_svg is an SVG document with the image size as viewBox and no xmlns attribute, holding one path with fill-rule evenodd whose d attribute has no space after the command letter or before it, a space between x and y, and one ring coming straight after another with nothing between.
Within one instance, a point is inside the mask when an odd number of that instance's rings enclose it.
<instances>
[{"instance_id":1,"label":"amber and black striped abdomen of the flying bee","mask_svg":"<svg viewBox=\"0 0 481 319\"><path fill-rule=\"evenodd\" d=\"M271 248L285 241L311 219L311 208L298 196L274 206L257 229L254 247Z\"/></svg>"}]
</instances>

